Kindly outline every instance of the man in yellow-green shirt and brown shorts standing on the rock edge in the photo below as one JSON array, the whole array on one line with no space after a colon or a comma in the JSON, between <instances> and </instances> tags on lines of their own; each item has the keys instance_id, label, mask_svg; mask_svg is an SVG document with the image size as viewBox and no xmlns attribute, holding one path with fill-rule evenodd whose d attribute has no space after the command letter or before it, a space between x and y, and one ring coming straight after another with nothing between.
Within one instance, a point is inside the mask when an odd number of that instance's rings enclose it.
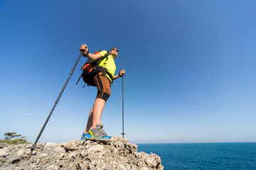
<instances>
[{"instance_id":1,"label":"man in yellow-green shirt and brown shorts standing on the rock edge","mask_svg":"<svg viewBox=\"0 0 256 170\"><path fill-rule=\"evenodd\" d=\"M118 49L117 47L112 47L110 52L103 50L98 53L92 54L89 53L87 45L84 44L80 46L80 52L82 52L82 55L87 57L90 61L99 61L100 63L97 65L101 68L103 67L103 70L106 70L93 74L92 81L95 86L97 86L97 97L90 111L87 126L85 128L85 132L82 133L81 140L110 140L111 136L108 136L107 133L103 130L103 125L101 124L101 117L105 103L110 97L112 81L119 77L123 77L125 74L124 69L122 69L119 74L114 75L114 72L116 70L114 59L118 55Z\"/></svg>"}]
</instances>

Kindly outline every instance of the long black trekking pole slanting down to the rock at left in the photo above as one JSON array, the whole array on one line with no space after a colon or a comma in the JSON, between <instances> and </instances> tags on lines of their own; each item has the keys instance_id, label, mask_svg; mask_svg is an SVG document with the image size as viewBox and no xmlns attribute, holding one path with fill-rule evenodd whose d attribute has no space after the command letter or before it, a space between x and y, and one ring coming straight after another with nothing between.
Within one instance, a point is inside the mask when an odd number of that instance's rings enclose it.
<instances>
[{"instance_id":1,"label":"long black trekking pole slanting down to the rock at left","mask_svg":"<svg viewBox=\"0 0 256 170\"><path fill-rule=\"evenodd\" d=\"M82 51L82 52L83 52L83 51ZM79 57L78 57L78 60L75 62L75 65L74 65L72 71L70 72L70 75L69 75L67 81L65 82L65 84L64 84L64 86L63 86L63 89L60 91L60 94L59 94L57 100L55 101L55 104L54 104L52 110L50 111L50 114L48 115L48 118L46 119L46 122L45 122L44 125L43 125L43 128L41 129L41 131L40 131L38 137L36 138L36 142L33 144L32 147L26 147L27 149L31 149L31 152L28 154L28 159L31 157L31 154L32 154L33 150L36 149L36 148L39 148L39 147L36 147L36 144L37 144L39 138L41 137L44 128L46 128L46 124L48 123L48 120L50 119L50 115L53 113L54 108L55 108L55 106L57 105L57 103L58 103L58 101L59 101L59 99L60 99L60 96L63 94L63 91L64 91L64 89L65 89L65 86L67 86L68 81L69 81L71 75L73 74L76 65L78 64L78 62L79 62L79 60L80 60L80 57L81 57L81 55L82 55L82 52L80 53L80 55L79 55Z\"/></svg>"}]
</instances>

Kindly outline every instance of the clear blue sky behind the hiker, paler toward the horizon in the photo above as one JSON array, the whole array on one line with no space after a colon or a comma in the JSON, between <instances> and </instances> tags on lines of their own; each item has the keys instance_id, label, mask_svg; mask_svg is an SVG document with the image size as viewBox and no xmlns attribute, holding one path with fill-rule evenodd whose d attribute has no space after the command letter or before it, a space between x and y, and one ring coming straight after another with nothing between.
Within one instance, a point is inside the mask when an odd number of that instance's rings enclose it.
<instances>
[{"instance_id":1,"label":"clear blue sky behind the hiker, paler toward the horizon","mask_svg":"<svg viewBox=\"0 0 256 170\"><path fill-rule=\"evenodd\" d=\"M255 16L253 0L0 0L0 139L35 142L85 43L119 49L129 142L256 142ZM86 60L39 142L80 139L97 94L75 85ZM122 79L102 124L122 137Z\"/></svg>"}]
</instances>

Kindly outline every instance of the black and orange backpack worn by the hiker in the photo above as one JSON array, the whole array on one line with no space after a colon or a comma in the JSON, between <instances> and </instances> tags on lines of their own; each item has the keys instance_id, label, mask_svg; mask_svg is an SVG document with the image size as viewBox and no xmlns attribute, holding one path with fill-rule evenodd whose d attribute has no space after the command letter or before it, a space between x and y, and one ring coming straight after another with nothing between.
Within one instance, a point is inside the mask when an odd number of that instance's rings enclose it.
<instances>
[{"instance_id":1,"label":"black and orange backpack worn by the hiker","mask_svg":"<svg viewBox=\"0 0 256 170\"><path fill-rule=\"evenodd\" d=\"M94 54L97 55L99 52L101 52L101 50L95 52ZM102 72L103 76L105 74L108 74L112 79L112 75L109 72L107 72L107 69L105 67L99 66L100 62L104 60L108 55L110 55L110 52L107 51L107 54L102 56L99 60L92 61L88 59L87 62L85 62L85 64L83 64L81 67L82 74L80 75L78 81L80 81L80 78L82 77L83 81L85 81L85 84L87 84L87 86L96 86L96 84L93 81L93 77L95 77L95 74L99 72ZM78 84L78 81L76 84Z\"/></svg>"}]
</instances>

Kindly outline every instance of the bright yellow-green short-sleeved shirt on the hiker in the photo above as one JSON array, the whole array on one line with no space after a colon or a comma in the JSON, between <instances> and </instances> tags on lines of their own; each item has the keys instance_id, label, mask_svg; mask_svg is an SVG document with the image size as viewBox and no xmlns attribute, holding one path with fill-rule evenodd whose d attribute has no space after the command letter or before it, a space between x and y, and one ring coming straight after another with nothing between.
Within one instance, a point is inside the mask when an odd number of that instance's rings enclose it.
<instances>
[{"instance_id":1,"label":"bright yellow-green short-sleeved shirt on the hiker","mask_svg":"<svg viewBox=\"0 0 256 170\"><path fill-rule=\"evenodd\" d=\"M107 54L107 51L103 50L99 52L99 54L104 56L105 54ZM117 67L114 63L114 58L112 57L112 55L108 55L107 57L105 57L105 59L103 59L100 62L99 66L105 67L107 69L107 72L109 72L112 75L112 77L114 77L114 72L117 69ZM110 78L110 76L108 74L106 74L106 76L112 82L112 79Z\"/></svg>"}]
</instances>

